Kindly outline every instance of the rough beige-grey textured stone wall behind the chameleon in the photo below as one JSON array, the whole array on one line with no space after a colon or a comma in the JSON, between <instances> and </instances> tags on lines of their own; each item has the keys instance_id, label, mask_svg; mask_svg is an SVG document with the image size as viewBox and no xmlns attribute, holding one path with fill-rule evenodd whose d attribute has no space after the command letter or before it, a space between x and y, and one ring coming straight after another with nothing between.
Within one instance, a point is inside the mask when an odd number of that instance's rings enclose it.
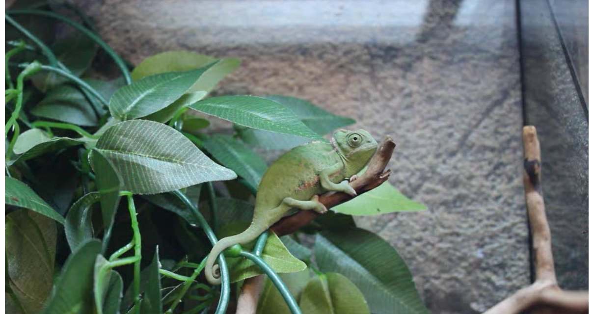
<instances>
[{"instance_id":1,"label":"rough beige-grey textured stone wall behind the chameleon","mask_svg":"<svg viewBox=\"0 0 594 314\"><path fill-rule=\"evenodd\" d=\"M217 91L304 97L391 135L391 182L421 213L359 218L429 309L475 313L529 283L514 1L79 1L134 64L237 56Z\"/></svg>"}]
</instances>

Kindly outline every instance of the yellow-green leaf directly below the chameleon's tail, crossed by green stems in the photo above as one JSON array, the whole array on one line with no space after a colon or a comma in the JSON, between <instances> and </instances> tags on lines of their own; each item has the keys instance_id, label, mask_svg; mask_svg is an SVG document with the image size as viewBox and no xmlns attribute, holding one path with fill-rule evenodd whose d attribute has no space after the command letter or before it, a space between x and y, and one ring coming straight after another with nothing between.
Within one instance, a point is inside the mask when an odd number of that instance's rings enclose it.
<instances>
[{"instance_id":1,"label":"yellow-green leaf directly below the chameleon's tail, crossed by green stems","mask_svg":"<svg viewBox=\"0 0 594 314\"><path fill-rule=\"evenodd\" d=\"M221 237L231 236L244 231L249 226L247 221L234 221L233 223L223 226L219 230ZM255 240L247 245L242 245L245 250L252 250L255 245ZM262 252L262 259L275 271L275 272L297 272L307 268L304 262L299 261L295 256L289 253L289 250L283 245L279 237L270 233ZM244 280L247 278L255 277L263 274L260 267L257 267L252 261L247 258L227 258L227 263L230 269L231 283Z\"/></svg>"}]
</instances>

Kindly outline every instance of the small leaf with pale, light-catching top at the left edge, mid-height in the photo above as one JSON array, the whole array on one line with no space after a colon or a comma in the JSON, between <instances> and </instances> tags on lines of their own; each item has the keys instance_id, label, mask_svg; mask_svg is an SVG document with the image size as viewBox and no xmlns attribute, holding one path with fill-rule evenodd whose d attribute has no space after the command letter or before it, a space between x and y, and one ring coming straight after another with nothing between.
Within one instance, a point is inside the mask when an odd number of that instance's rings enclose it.
<instances>
[{"instance_id":1,"label":"small leaf with pale, light-catching top at the left edge, mid-height","mask_svg":"<svg viewBox=\"0 0 594 314\"><path fill-rule=\"evenodd\" d=\"M10 166L17 161L29 160L52 151L84 144L85 142L86 140L82 138L50 138L40 129L30 129L18 137L13 150L16 156L12 160L7 161L7 164Z\"/></svg>"}]
</instances>

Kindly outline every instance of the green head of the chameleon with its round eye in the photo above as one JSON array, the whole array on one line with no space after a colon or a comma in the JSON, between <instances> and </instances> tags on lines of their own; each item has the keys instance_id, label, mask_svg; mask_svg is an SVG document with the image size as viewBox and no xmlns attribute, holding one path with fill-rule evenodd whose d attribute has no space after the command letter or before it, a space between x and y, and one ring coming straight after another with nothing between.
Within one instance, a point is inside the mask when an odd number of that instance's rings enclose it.
<instances>
[{"instance_id":1,"label":"green head of the chameleon with its round eye","mask_svg":"<svg viewBox=\"0 0 594 314\"><path fill-rule=\"evenodd\" d=\"M346 160L362 163L361 168L377 150L377 142L364 129L355 131L339 129L334 132L332 144Z\"/></svg>"}]
</instances>

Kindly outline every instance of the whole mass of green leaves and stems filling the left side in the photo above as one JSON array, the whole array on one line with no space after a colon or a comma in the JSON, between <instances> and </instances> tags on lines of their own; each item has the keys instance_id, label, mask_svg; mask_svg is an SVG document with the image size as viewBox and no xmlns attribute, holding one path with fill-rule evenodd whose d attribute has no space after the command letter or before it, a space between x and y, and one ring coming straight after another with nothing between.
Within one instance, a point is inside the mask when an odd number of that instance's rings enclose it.
<instances>
[{"instance_id":1,"label":"whole mass of green leaves and stems filling the left side","mask_svg":"<svg viewBox=\"0 0 594 314\"><path fill-rule=\"evenodd\" d=\"M6 309L214 310L205 228L220 238L247 227L269 151L326 141L355 120L296 97L210 96L235 58L170 51L129 68L77 9L33 7L17 2L6 24ZM85 31L56 36L65 22ZM232 129L210 128L216 119ZM304 313L425 313L396 250L353 220L423 209L384 183L292 236L270 234L261 257ZM236 288L263 273L227 263ZM289 311L270 281L258 311Z\"/></svg>"}]
</instances>

